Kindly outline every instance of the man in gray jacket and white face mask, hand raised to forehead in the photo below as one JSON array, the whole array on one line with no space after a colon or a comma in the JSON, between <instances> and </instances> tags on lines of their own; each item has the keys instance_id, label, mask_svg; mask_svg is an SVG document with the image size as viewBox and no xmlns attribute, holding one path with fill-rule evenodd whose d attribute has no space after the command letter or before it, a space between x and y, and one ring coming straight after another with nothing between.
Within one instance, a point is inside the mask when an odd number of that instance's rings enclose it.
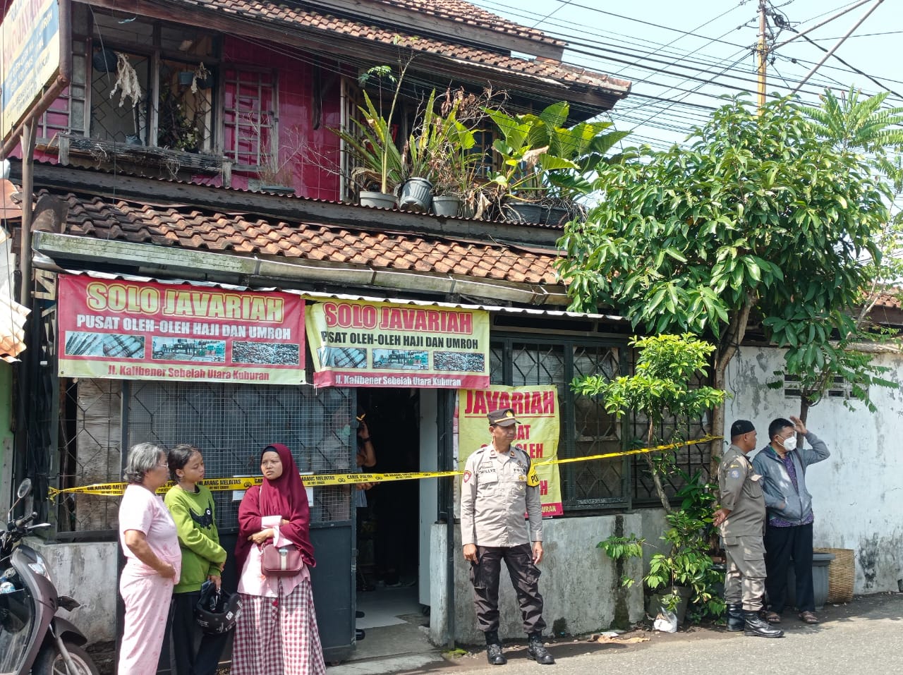
<instances>
[{"instance_id":1,"label":"man in gray jacket and white face mask, hand raised to forehead","mask_svg":"<svg viewBox=\"0 0 903 675\"><path fill-rule=\"evenodd\" d=\"M796 435L809 441L811 449L796 447ZM771 442L753 458L762 476L768 522L765 528L765 566L768 577L766 620L779 624L787 602L787 570L793 560L796 573L796 608L806 624L817 624L812 587L812 495L805 489L805 468L831 453L823 440L806 430L798 417L778 418L768 425Z\"/></svg>"}]
</instances>

